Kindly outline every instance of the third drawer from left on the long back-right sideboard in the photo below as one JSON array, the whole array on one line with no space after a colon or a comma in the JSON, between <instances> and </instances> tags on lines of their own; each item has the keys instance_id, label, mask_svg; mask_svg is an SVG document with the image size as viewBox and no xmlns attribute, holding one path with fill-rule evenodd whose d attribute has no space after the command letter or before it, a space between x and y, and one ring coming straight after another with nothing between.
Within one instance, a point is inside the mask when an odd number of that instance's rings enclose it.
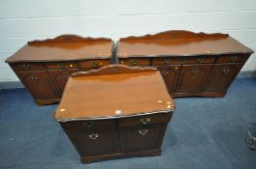
<instances>
[{"instance_id":1,"label":"third drawer from left on the long back-right sideboard","mask_svg":"<svg viewBox=\"0 0 256 169\"><path fill-rule=\"evenodd\" d=\"M190 56L183 57L182 64L213 64L216 56Z\"/></svg>"}]
</instances>

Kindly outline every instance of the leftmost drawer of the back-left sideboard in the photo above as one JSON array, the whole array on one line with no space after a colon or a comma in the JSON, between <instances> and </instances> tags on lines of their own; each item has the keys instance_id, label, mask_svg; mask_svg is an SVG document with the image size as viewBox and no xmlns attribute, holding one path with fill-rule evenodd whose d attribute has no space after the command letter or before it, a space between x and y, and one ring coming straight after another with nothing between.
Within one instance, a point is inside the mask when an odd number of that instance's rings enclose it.
<instances>
[{"instance_id":1,"label":"leftmost drawer of the back-left sideboard","mask_svg":"<svg viewBox=\"0 0 256 169\"><path fill-rule=\"evenodd\" d=\"M22 71L22 70L45 70L42 63L29 63L29 62L20 62L10 64L13 70Z\"/></svg>"}]
</instances>

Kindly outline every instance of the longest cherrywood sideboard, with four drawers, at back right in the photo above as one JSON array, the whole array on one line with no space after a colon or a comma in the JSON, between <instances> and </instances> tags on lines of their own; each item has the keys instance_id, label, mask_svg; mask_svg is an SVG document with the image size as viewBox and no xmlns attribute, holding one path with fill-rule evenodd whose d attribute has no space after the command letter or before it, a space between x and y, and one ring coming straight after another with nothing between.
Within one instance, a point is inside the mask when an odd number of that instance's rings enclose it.
<instances>
[{"instance_id":1,"label":"longest cherrywood sideboard, with four drawers, at back right","mask_svg":"<svg viewBox=\"0 0 256 169\"><path fill-rule=\"evenodd\" d=\"M167 31L117 42L119 64L154 67L172 97L224 97L253 51L227 34Z\"/></svg>"}]
</instances>

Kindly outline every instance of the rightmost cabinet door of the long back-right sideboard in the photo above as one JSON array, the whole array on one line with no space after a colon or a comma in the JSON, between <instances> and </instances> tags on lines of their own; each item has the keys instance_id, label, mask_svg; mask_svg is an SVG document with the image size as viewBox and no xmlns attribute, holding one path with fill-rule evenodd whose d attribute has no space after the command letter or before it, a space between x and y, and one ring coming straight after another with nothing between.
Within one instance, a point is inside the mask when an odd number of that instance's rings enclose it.
<instances>
[{"instance_id":1,"label":"rightmost cabinet door of the long back-right sideboard","mask_svg":"<svg viewBox=\"0 0 256 169\"><path fill-rule=\"evenodd\" d=\"M243 64L217 64L208 75L204 91L223 91L225 92L237 74L240 72Z\"/></svg>"}]
</instances>

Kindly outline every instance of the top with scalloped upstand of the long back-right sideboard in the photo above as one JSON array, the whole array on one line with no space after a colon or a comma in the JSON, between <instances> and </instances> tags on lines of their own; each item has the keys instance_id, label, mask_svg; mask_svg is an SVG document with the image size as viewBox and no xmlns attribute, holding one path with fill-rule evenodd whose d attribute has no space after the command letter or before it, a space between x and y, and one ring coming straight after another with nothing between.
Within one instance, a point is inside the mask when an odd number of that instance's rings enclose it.
<instances>
[{"instance_id":1,"label":"top with scalloped upstand of the long back-right sideboard","mask_svg":"<svg viewBox=\"0 0 256 169\"><path fill-rule=\"evenodd\" d=\"M228 34L189 31L167 31L143 37L122 38L117 43L117 48L119 58L253 53L253 50Z\"/></svg>"}]
</instances>

